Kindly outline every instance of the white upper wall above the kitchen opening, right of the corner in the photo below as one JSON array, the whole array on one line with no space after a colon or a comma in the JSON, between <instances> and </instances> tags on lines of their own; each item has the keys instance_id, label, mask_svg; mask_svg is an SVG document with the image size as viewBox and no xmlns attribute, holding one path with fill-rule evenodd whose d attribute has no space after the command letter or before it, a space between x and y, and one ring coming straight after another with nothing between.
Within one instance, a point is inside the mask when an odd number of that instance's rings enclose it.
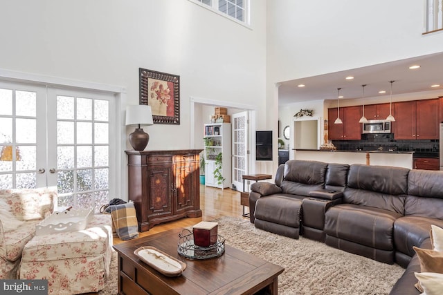
<instances>
[{"instance_id":1,"label":"white upper wall above the kitchen opening, right of the corner","mask_svg":"<svg viewBox=\"0 0 443 295\"><path fill-rule=\"evenodd\" d=\"M443 32L422 35L424 8L424 0L272 1L267 10L269 87L442 52Z\"/></svg>"}]
</instances>

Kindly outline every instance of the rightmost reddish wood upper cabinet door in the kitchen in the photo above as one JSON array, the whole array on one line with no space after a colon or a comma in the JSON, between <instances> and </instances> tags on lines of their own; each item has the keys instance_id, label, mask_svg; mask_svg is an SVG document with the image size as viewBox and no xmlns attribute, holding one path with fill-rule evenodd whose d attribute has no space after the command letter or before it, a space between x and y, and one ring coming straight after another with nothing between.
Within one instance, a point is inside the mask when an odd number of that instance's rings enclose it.
<instances>
[{"instance_id":1,"label":"rightmost reddish wood upper cabinet door in the kitchen","mask_svg":"<svg viewBox=\"0 0 443 295\"><path fill-rule=\"evenodd\" d=\"M417 140L437 140L439 99L417 100Z\"/></svg>"}]
</instances>

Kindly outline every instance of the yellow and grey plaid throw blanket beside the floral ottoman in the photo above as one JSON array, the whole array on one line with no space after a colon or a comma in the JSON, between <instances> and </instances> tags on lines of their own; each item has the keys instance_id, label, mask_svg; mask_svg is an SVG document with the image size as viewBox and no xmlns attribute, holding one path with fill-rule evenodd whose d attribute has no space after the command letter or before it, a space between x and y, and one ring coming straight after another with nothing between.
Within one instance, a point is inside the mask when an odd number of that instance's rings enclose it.
<instances>
[{"instance_id":1,"label":"yellow and grey plaid throw blanket beside the floral ottoman","mask_svg":"<svg viewBox=\"0 0 443 295\"><path fill-rule=\"evenodd\" d=\"M109 205L109 209L118 237L122 240L138 238L138 223L134 203Z\"/></svg>"}]
</instances>

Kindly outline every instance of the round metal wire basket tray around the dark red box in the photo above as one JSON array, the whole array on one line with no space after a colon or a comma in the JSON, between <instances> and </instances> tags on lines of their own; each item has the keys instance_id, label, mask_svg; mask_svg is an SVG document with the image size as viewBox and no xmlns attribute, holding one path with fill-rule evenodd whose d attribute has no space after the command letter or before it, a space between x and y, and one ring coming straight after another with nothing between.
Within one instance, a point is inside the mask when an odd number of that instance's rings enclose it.
<instances>
[{"instance_id":1,"label":"round metal wire basket tray around the dark red box","mask_svg":"<svg viewBox=\"0 0 443 295\"><path fill-rule=\"evenodd\" d=\"M179 234L177 251L183 257L190 259L208 259L219 257L224 254L224 241L217 235L217 242L209 247L200 247L194 244L194 234L189 229L183 229Z\"/></svg>"}]
</instances>

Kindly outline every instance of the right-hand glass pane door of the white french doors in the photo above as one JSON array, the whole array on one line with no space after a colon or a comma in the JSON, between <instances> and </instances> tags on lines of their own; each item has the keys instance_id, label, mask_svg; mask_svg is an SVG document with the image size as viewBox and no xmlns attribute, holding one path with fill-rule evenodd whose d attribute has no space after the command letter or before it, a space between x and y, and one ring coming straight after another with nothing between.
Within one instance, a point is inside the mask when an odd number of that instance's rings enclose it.
<instances>
[{"instance_id":1,"label":"right-hand glass pane door of the white french doors","mask_svg":"<svg viewBox=\"0 0 443 295\"><path fill-rule=\"evenodd\" d=\"M114 97L57 88L48 97L48 182L57 185L59 206L98 211L115 190Z\"/></svg>"}]
</instances>

